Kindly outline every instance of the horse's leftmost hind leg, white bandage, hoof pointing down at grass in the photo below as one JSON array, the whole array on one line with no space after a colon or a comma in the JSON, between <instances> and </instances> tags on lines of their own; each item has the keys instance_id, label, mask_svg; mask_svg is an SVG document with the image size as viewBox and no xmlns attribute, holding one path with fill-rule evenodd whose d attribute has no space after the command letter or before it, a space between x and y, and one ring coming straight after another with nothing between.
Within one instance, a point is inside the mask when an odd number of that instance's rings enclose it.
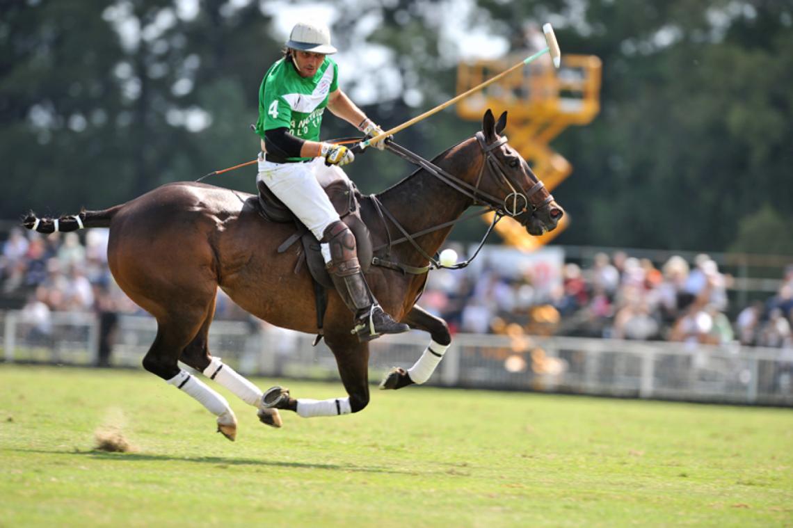
<instances>
[{"instance_id":1,"label":"horse's leftmost hind leg, white bandage, hoof pointing down at grass","mask_svg":"<svg viewBox=\"0 0 793 528\"><path fill-rule=\"evenodd\" d=\"M193 340L200 323L191 324L186 318L174 321L158 319L157 323L157 337L144 357L144 369L162 377L168 385L186 392L216 415L217 430L233 442L237 419L228 401L178 366L179 355Z\"/></svg>"}]
</instances>

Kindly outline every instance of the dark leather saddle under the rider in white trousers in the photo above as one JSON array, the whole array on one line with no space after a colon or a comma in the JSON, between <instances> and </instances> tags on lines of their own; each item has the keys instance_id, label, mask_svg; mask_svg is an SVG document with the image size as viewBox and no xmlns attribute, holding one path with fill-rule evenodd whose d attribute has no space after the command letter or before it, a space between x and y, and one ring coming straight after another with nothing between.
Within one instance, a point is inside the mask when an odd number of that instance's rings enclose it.
<instances>
[{"instance_id":1,"label":"dark leather saddle under the rider in white trousers","mask_svg":"<svg viewBox=\"0 0 793 528\"><path fill-rule=\"evenodd\" d=\"M278 253L283 253L300 239L302 251L297 258L295 273L305 262L316 285L320 285L324 289L334 289L328 270L325 269L325 259L320 252L320 243L313 233L308 231L308 228L274 195L264 182L259 181L257 187L259 189L259 214L270 222L295 224L297 228L297 231L278 247ZM325 193L328 193L328 198L339 214L339 218L344 224L347 224L355 236L358 262L361 264L362 271L366 273L372 263L372 238L369 228L366 228L366 224L361 219L359 200L362 195L360 191L350 180L336 180L325 187Z\"/></svg>"}]
</instances>

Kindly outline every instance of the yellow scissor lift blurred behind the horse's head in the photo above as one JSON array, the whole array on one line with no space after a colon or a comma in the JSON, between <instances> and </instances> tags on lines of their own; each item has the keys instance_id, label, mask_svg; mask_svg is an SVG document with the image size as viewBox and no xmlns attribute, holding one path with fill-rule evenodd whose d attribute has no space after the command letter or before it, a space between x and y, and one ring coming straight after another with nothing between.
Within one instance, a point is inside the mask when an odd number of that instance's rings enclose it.
<instances>
[{"instance_id":1,"label":"yellow scissor lift blurred behind the horse's head","mask_svg":"<svg viewBox=\"0 0 793 528\"><path fill-rule=\"evenodd\" d=\"M485 82L520 59L520 56L511 55L500 60L461 63L457 76L458 94ZM485 90L462 99L457 112L463 119L480 121L488 108L496 117L508 111L509 144L552 190L569 176L573 167L548 143L571 124L588 124L600 111L600 59L594 55L562 55L561 67L555 70L550 56L546 55L527 64L522 71L515 71ZM485 220L492 221L492 213L486 215ZM496 225L496 232L505 243L531 251L550 242L568 224L569 216L565 215L554 231L532 237L515 220L504 218Z\"/></svg>"}]
</instances>

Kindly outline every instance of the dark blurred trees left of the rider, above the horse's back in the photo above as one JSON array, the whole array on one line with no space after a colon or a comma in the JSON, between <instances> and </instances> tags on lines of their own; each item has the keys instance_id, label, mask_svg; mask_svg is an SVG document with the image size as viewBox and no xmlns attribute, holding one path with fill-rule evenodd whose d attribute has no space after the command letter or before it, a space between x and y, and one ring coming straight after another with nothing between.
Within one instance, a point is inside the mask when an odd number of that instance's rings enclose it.
<instances>
[{"instance_id":1,"label":"dark blurred trees left of the rider, above the horse's back","mask_svg":"<svg viewBox=\"0 0 793 528\"><path fill-rule=\"evenodd\" d=\"M270 18L255 3L184 5L0 4L3 217L105 207L255 156L247 124L279 52Z\"/></svg>"}]
</instances>

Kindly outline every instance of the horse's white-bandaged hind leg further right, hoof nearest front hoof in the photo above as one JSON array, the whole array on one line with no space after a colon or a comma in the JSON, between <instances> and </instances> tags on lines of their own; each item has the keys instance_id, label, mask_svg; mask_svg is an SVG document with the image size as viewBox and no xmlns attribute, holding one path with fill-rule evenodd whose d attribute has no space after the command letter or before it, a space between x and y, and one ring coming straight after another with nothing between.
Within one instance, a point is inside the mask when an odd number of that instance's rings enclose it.
<instances>
[{"instance_id":1,"label":"horse's white-bandaged hind leg further right, hoof nearest front hoof","mask_svg":"<svg viewBox=\"0 0 793 528\"><path fill-rule=\"evenodd\" d=\"M246 404L256 407L259 421L262 423L270 427L282 427L283 422L281 415L278 414L278 409L262 405L262 391L259 387L237 373L235 369L225 364L220 358L209 354L209 325L212 324L214 312L215 304L213 302L204 323L201 324L201 330L198 331L193 341L182 350L182 356L179 359L186 365L193 367L193 369L201 371L217 384L228 388L232 394Z\"/></svg>"}]
</instances>

